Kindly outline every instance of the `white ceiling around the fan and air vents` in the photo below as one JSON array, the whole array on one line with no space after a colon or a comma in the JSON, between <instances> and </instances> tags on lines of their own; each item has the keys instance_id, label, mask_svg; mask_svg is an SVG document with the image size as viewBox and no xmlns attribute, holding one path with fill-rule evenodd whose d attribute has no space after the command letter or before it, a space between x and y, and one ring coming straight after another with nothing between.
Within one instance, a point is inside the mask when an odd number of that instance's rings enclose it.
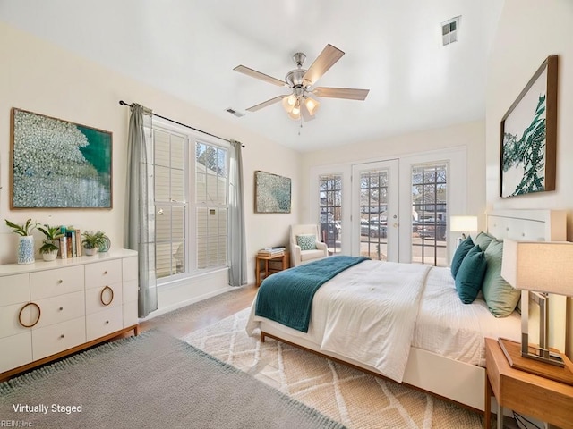
<instances>
[{"instance_id":1,"label":"white ceiling around the fan and air vents","mask_svg":"<svg viewBox=\"0 0 573 429\"><path fill-rule=\"evenodd\" d=\"M0 0L0 21L286 147L310 151L483 119L487 54L502 4ZM458 15L458 42L441 46L440 23ZM327 44L346 55L318 86L369 88L365 101L321 98L316 119L303 128L280 103L245 111L289 91L233 71L236 65L283 80L295 68L292 55L303 52L308 68ZM245 115L228 114L229 107Z\"/></svg>"}]
</instances>

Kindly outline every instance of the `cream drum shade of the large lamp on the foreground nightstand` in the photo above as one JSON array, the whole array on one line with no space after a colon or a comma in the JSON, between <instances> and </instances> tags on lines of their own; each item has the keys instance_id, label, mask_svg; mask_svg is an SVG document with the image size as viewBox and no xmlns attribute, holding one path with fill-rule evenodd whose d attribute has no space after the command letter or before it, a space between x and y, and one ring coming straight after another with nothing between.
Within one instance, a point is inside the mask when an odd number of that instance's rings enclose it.
<instances>
[{"instance_id":1,"label":"cream drum shade of the large lamp on the foreground nightstand","mask_svg":"<svg viewBox=\"0 0 573 429\"><path fill-rule=\"evenodd\" d=\"M573 296L573 243L503 240L501 277L519 290Z\"/></svg>"}]
</instances>

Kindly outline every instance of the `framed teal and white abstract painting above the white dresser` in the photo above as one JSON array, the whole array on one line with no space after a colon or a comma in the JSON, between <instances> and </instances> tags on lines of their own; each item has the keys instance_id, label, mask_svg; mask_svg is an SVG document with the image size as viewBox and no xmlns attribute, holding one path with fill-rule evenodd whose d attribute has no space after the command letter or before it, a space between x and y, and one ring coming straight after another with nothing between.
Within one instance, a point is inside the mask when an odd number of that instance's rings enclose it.
<instances>
[{"instance_id":1,"label":"framed teal and white abstract painting above the white dresser","mask_svg":"<svg viewBox=\"0 0 573 429\"><path fill-rule=\"evenodd\" d=\"M12 109L13 209L112 208L112 133Z\"/></svg>"}]
</instances>

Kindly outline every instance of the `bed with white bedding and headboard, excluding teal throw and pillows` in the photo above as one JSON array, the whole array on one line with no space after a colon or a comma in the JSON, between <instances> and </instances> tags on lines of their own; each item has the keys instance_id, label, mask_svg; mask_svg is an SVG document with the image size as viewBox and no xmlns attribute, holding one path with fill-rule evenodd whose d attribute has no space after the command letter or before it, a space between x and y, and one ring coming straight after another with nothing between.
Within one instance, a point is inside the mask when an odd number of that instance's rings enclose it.
<instances>
[{"instance_id":1,"label":"bed with white bedding and headboard, excluding teal throw and pillows","mask_svg":"<svg viewBox=\"0 0 573 429\"><path fill-rule=\"evenodd\" d=\"M566 240L564 211L496 211L487 226L499 240ZM380 287L381 279L391 287ZM376 303L389 299L388 290L400 291L390 306L399 311L389 321L376 318L386 311ZM495 317L483 296L463 304L449 267L357 263L316 291L306 332L255 315L256 302L246 331L261 341L290 343L478 411L486 410L484 338L520 341L517 311ZM360 312L348 302L357 302Z\"/></svg>"}]
</instances>

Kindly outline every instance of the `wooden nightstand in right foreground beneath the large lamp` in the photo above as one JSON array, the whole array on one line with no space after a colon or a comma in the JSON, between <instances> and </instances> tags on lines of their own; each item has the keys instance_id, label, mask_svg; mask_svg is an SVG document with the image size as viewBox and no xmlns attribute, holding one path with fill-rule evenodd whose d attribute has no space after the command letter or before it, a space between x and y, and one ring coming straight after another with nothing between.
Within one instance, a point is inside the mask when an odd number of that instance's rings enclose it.
<instances>
[{"instance_id":1,"label":"wooden nightstand in right foreground beneath the large lamp","mask_svg":"<svg viewBox=\"0 0 573 429\"><path fill-rule=\"evenodd\" d=\"M504 407L547 422L550 428L552 425L573 428L572 385L512 368L500 344L492 338L485 339L485 363L489 382L485 400L489 404L493 394L498 401L498 429L503 428ZM570 361L568 363L570 365ZM490 418L490 409L486 406L486 428Z\"/></svg>"}]
</instances>

